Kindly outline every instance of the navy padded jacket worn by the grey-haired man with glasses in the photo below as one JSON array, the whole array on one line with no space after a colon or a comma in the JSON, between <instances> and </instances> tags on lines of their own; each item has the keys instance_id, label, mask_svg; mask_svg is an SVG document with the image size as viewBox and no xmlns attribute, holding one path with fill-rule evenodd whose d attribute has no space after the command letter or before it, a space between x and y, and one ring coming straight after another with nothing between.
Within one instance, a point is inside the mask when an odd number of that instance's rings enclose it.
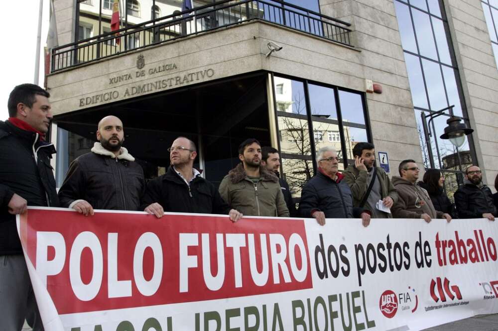
<instances>
[{"instance_id":1,"label":"navy padded jacket worn by the grey-haired man with glasses","mask_svg":"<svg viewBox=\"0 0 498 331\"><path fill-rule=\"evenodd\" d=\"M319 169L320 170L320 169ZM359 217L360 209L353 208L353 195L344 176L337 173L337 180L318 171L303 187L299 214L312 217L311 213L320 211L327 219L352 219Z\"/></svg>"}]
</instances>

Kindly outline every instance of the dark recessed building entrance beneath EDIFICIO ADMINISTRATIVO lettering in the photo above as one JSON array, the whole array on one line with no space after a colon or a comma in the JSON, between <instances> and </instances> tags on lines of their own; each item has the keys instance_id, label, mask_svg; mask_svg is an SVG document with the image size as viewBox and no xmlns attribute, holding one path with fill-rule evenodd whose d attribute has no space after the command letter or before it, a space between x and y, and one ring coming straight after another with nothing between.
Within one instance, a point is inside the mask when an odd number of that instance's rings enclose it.
<instances>
[{"instance_id":1,"label":"dark recessed building entrance beneath EDIFICIO ADMINISTRATIVO lettering","mask_svg":"<svg viewBox=\"0 0 498 331\"><path fill-rule=\"evenodd\" d=\"M116 115L124 124L124 147L154 178L169 166L167 148L177 136L196 142L195 167L216 186L239 161L246 138L270 145L265 73L192 86L100 108L57 115L57 184L69 163L90 152L98 121Z\"/></svg>"}]
</instances>

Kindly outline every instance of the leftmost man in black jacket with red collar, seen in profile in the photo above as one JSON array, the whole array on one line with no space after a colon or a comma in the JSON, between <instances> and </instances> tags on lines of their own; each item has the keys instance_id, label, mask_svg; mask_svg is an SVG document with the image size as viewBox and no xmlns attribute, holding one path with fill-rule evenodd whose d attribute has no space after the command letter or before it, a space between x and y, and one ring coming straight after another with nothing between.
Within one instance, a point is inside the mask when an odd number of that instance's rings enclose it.
<instances>
[{"instance_id":1,"label":"leftmost man in black jacket with red collar, seen in profile","mask_svg":"<svg viewBox=\"0 0 498 331\"><path fill-rule=\"evenodd\" d=\"M49 97L37 85L18 85L8 98L10 117L0 121L1 330L21 330L24 319L43 330L15 215L27 206L59 207L50 166L55 148L44 141L52 119Z\"/></svg>"}]
</instances>

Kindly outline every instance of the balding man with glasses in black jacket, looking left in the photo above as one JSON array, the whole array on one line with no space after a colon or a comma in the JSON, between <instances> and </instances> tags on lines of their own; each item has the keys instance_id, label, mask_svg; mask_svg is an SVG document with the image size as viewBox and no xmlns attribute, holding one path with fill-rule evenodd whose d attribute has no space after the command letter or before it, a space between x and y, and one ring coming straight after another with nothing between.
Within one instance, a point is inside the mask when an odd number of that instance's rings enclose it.
<instances>
[{"instance_id":1,"label":"balding man with glasses in black jacket, looking left","mask_svg":"<svg viewBox=\"0 0 498 331\"><path fill-rule=\"evenodd\" d=\"M242 218L194 168L197 148L192 140L178 137L168 151L171 165L167 172L147 184L142 204L145 212L161 217L164 212L228 214L234 222Z\"/></svg>"}]
</instances>

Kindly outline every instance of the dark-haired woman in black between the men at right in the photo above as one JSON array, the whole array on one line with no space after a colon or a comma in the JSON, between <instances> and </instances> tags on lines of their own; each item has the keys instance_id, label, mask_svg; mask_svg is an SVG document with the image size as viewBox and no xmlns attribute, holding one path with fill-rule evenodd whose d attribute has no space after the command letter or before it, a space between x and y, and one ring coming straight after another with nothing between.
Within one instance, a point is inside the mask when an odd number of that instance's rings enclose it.
<instances>
[{"instance_id":1,"label":"dark-haired woman in black between the men at right","mask_svg":"<svg viewBox=\"0 0 498 331\"><path fill-rule=\"evenodd\" d=\"M455 204L452 204L450 199L444 194L443 183L444 177L438 169L426 170L423 182L418 182L429 193L435 210L450 214L453 219L457 219Z\"/></svg>"}]
</instances>

